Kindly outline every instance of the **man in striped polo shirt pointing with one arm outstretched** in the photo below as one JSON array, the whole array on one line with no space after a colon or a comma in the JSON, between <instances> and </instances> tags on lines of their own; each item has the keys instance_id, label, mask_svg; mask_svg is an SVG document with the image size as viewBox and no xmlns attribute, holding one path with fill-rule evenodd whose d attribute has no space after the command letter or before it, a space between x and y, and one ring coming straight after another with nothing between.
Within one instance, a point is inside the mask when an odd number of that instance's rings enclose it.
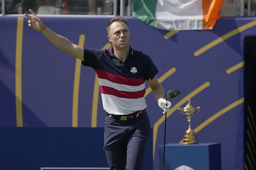
<instances>
[{"instance_id":1,"label":"man in striped polo shirt pointing with one arm outstretched","mask_svg":"<svg viewBox=\"0 0 256 170\"><path fill-rule=\"evenodd\" d=\"M112 47L95 50L80 47L62 37L36 16L25 14L28 25L40 32L61 50L95 69L106 111L104 150L110 169L142 168L150 120L144 99L145 82L152 89L160 108L167 112L171 103L163 99L164 90L156 78L156 66L147 55L130 47L130 31L123 17L111 19L106 26Z\"/></svg>"}]
</instances>

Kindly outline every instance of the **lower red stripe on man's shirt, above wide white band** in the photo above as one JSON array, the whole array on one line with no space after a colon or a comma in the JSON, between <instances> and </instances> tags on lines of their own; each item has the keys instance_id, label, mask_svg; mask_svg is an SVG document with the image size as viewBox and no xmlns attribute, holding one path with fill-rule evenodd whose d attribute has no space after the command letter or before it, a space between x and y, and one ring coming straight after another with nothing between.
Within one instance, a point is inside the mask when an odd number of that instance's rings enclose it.
<instances>
[{"instance_id":1,"label":"lower red stripe on man's shirt, above wide white band","mask_svg":"<svg viewBox=\"0 0 256 170\"><path fill-rule=\"evenodd\" d=\"M145 89L140 91L120 91L108 86L100 86L102 94L110 94L117 96L118 98L138 99L142 98L145 94Z\"/></svg>"}]
</instances>

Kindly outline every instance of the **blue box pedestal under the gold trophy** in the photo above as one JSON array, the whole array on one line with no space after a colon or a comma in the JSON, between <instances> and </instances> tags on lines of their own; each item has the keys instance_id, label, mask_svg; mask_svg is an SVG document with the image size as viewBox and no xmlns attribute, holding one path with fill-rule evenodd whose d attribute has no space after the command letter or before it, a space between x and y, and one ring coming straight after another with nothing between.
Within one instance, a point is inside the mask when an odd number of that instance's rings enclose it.
<instances>
[{"instance_id":1,"label":"blue box pedestal under the gold trophy","mask_svg":"<svg viewBox=\"0 0 256 170\"><path fill-rule=\"evenodd\" d=\"M160 169L163 163L163 145L160 150ZM185 166L187 168L185 168ZM188 168L190 167L190 168ZM175 144L165 145L165 170L221 170L221 144Z\"/></svg>"}]
</instances>

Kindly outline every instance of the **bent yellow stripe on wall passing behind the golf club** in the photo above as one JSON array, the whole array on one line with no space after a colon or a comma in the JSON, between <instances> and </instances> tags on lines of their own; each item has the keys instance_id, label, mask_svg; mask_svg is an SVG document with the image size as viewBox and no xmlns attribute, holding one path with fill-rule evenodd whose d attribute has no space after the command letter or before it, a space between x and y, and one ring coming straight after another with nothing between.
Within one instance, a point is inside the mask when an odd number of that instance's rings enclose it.
<instances>
[{"instance_id":1,"label":"bent yellow stripe on wall passing behind the golf club","mask_svg":"<svg viewBox=\"0 0 256 170\"><path fill-rule=\"evenodd\" d=\"M176 105L174 105L166 114L167 117L169 117L171 114L173 114L174 111L176 111L180 106L182 106L185 102L187 102L188 99L193 98L195 95L197 95L199 92L204 90L210 85L210 82L205 82L192 92L190 92L188 95L185 96L180 102L178 102ZM155 148L156 148L156 139L157 139L157 133L159 126L164 122L165 115L162 115L160 119L157 120L157 122L154 124L153 128L153 158L155 156Z\"/></svg>"}]
</instances>

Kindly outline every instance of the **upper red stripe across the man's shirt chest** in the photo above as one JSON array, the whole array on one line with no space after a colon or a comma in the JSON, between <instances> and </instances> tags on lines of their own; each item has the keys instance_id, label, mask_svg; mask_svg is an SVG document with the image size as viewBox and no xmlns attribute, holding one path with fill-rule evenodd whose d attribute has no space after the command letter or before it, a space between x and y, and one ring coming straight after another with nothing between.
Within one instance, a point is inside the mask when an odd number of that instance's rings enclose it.
<instances>
[{"instance_id":1,"label":"upper red stripe across the man's shirt chest","mask_svg":"<svg viewBox=\"0 0 256 170\"><path fill-rule=\"evenodd\" d=\"M98 78L109 80L113 83L125 84L130 86L139 86L145 82L144 78L135 79L135 78L123 77L123 76L111 74L109 72L105 72L101 69L97 69L96 72L97 72Z\"/></svg>"}]
</instances>

